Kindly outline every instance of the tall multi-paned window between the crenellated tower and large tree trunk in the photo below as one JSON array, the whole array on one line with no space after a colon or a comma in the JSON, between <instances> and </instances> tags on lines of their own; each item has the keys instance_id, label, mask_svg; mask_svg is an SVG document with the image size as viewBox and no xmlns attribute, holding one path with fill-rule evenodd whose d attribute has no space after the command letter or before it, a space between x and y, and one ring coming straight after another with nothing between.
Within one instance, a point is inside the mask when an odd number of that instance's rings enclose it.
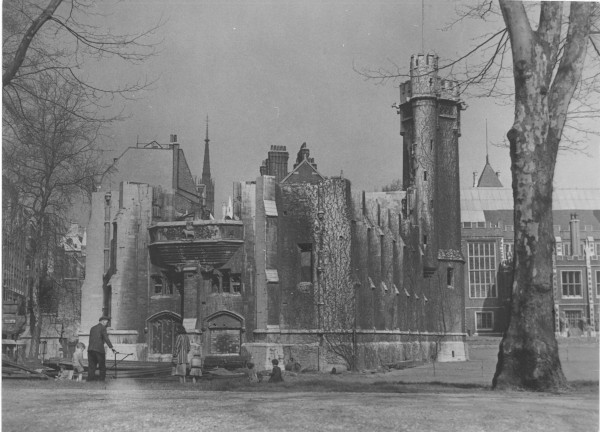
<instances>
[{"instance_id":1,"label":"tall multi-paned window between the crenellated tower and large tree trunk","mask_svg":"<svg viewBox=\"0 0 600 432\"><path fill-rule=\"evenodd\" d=\"M486 247L491 247L491 250L485 250ZM479 253L481 249L483 249L483 255ZM467 252L469 261L469 298L497 298L498 286L496 274L498 270L496 264L496 242L468 242ZM473 252L477 252L477 255L473 255Z\"/></svg>"}]
</instances>

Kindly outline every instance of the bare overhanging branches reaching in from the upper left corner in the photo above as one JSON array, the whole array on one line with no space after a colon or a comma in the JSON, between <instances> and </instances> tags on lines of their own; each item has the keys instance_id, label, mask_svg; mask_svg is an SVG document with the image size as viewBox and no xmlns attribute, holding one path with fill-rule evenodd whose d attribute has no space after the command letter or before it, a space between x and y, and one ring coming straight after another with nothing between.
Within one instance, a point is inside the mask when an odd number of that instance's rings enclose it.
<instances>
[{"instance_id":1,"label":"bare overhanging branches reaching in from the upper left corner","mask_svg":"<svg viewBox=\"0 0 600 432\"><path fill-rule=\"evenodd\" d=\"M156 52L153 35L160 23L134 34L114 34L107 17L91 0L7 0L3 2L2 92L4 100L19 106L32 95L42 75L79 87L87 102L107 107L115 96L129 98L146 88L146 80L103 87L86 73L86 62L116 58L140 63ZM39 97L39 96L38 96ZM83 113L77 113L83 115ZM88 113L89 114L89 113ZM94 113L94 119L99 113ZM114 119L111 114L110 119Z\"/></svg>"}]
</instances>

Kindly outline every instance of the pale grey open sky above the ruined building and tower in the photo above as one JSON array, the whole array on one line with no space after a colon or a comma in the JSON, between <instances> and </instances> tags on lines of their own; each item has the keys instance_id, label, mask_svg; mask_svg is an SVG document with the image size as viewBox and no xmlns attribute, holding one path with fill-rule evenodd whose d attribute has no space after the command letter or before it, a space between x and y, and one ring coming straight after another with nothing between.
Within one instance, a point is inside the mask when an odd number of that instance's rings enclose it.
<instances>
[{"instance_id":1,"label":"pale grey open sky above the ruined building and tower","mask_svg":"<svg viewBox=\"0 0 600 432\"><path fill-rule=\"evenodd\" d=\"M157 56L127 68L103 62L95 71L107 82L140 74L157 79L151 91L125 106L129 119L112 128L114 156L137 139L167 143L176 133L192 173L200 176L208 115L217 216L234 181L258 176L271 145L287 146L291 169L306 142L323 175L343 171L355 191L380 190L402 177L399 116L391 108L399 82L376 85L353 67L404 67L422 47L441 62L464 54L486 27L470 21L440 30L456 3L425 1L422 39L420 0L103 2L103 8L110 5L115 31L165 21ZM490 143L499 143L513 111L511 104L489 99L466 103L462 187L484 166L486 119ZM508 150L488 148L493 168L509 187ZM592 157L560 155L556 187L600 187L598 143L590 142L587 151Z\"/></svg>"}]
</instances>

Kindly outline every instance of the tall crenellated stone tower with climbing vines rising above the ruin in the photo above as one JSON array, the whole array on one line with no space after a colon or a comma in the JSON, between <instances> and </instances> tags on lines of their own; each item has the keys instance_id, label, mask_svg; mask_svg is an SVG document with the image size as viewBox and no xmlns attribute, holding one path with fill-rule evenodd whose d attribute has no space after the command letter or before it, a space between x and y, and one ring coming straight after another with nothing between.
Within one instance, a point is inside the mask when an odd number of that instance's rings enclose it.
<instances>
[{"instance_id":1,"label":"tall crenellated stone tower with climbing vines rising above the ruin","mask_svg":"<svg viewBox=\"0 0 600 432\"><path fill-rule=\"evenodd\" d=\"M438 57L413 55L410 80L400 85L400 134L405 217L425 277L439 257L460 251L460 110L458 84L438 76Z\"/></svg>"}]
</instances>

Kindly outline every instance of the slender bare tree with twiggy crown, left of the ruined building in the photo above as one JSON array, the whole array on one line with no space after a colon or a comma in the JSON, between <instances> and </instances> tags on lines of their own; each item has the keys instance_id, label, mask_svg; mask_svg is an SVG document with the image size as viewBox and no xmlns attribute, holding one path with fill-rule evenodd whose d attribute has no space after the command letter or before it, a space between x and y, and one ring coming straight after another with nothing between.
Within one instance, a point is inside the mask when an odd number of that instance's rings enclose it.
<instances>
[{"instance_id":1,"label":"slender bare tree with twiggy crown, left of the ruined building","mask_svg":"<svg viewBox=\"0 0 600 432\"><path fill-rule=\"evenodd\" d=\"M41 74L30 96L15 106L4 104L3 179L16 191L17 205L30 225L28 313L32 344L38 351L40 299L52 273L52 256L66 232L73 200L94 189L104 171L98 150L102 121L85 113L87 99L79 87Z\"/></svg>"}]
</instances>

